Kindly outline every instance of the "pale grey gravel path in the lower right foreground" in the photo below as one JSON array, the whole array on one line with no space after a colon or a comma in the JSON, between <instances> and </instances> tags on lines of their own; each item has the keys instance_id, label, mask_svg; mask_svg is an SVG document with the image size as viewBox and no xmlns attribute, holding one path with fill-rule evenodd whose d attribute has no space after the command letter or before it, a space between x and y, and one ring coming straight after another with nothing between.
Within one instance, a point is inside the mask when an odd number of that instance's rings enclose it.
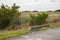
<instances>
[{"instance_id":1,"label":"pale grey gravel path in the lower right foreground","mask_svg":"<svg viewBox=\"0 0 60 40\"><path fill-rule=\"evenodd\" d=\"M60 27L32 32L26 35L8 38L6 40L60 40Z\"/></svg>"}]
</instances>

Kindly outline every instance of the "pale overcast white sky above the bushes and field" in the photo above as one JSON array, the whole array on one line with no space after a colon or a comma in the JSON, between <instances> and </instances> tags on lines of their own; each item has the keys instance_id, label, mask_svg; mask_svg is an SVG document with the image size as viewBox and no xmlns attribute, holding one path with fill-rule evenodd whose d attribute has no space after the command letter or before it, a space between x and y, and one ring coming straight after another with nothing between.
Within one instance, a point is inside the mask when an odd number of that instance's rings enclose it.
<instances>
[{"instance_id":1,"label":"pale overcast white sky above the bushes and field","mask_svg":"<svg viewBox=\"0 0 60 40\"><path fill-rule=\"evenodd\" d=\"M0 0L1 4L12 6L14 3L20 6L21 11L46 11L60 9L60 0Z\"/></svg>"}]
</instances>

